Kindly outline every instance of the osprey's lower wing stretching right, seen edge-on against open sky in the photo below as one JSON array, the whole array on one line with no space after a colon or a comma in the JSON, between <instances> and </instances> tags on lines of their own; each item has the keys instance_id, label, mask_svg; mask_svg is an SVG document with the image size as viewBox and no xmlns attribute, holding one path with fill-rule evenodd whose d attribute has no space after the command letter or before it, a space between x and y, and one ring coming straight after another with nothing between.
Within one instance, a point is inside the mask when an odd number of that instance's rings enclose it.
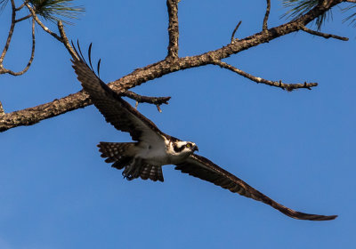
<instances>
[{"instance_id":1,"label":"osprey's lower wing stretching right, seen edge-on against open sky","mask_svg":"<svg viewBox=\"0 0 356 249\"><path fill-rule=\"evenodd\" d=\"M287 208L284 205L280 205L270 197L266 197L263 193L249 186L245 181L240 180L235 175L223 170L218 165L215 165L213 162L206 159L206 157L200 157L193 154L188 157L184 163L176 165L175 169L182 171L182 173L189 173L201 180L210 181L223 189L229 189L233 193L239 193L241 196L253 198L266 205L271 205L271 207L279 210L279 212L298 220L329 221L334 220L337 217L337 215L325 216L301 213Z\"/></svg>"}]
</instances>

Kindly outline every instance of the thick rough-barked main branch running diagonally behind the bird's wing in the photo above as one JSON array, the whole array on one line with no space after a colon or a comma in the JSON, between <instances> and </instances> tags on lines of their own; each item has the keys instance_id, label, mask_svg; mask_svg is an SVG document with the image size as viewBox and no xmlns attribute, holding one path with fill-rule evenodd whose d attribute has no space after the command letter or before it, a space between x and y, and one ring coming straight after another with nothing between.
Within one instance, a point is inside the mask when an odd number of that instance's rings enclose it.
<instances>
[{"instance_id":1,"label":"thick rough-barked main branch running diagonally behind the bird's wing","mask_svg":"<svg viewBox=\"0 0 356 249\"><path fill-rule=\"evenodd\" d=\"M248 36L233 44L227 44L215 51L206 52L192 57L178 58L177 60L158 61L147 67L134 70L131 74L123 76L117 81L109 84L109 86L114 91L125 92L129 88L182 69L196 68L211 64L211 58L222 60L223 58L230 57L232 54L239 53L259 44L271 42L271 40L278 38L279 36L285 36L298 31L301 29L302 25L307 25L309 22L320 16L320 14L327 12L331 7L340 4L341 2L343 1L324 1L314 7L310 12L307 12L295 20L291 20L279 27L264 30L253 36ZM77 108L84 108L89 104L91 104L91 101L88 96L83 92L77 92L62 98L61 100L54 100L53 102L35 108L27 108L7 113L0 118L0 131L4 132L20 125L36 124L45 118L58 116Z\"/></svg>"}]
</instances>

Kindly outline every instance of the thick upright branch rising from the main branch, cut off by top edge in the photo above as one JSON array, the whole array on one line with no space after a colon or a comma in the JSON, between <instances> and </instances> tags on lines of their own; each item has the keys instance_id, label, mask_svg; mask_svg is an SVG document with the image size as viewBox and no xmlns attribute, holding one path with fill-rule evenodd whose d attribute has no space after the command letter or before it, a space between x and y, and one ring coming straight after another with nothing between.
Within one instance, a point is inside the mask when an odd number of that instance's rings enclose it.
<instances>
[{"instance_id":1,"label":"thick upright branch rising from the main branch, cut off by top edge","mask_svg":"<svg viewBox=\"0 0 356 249\"><path fill-rule=\"evenodd\" d=\"M176 59L178 58L178 38L179 38L179 28L178 28L178 3L177 0L167 0L166 5L168 9L168 54L167 58Z\"/></svg>"}]
</instances>

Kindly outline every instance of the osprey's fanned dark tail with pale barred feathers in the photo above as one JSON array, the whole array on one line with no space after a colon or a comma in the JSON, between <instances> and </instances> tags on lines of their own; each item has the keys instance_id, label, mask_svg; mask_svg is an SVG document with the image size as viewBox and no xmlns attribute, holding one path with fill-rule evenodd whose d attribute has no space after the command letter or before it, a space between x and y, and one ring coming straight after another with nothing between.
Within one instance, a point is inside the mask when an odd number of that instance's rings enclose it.
<instances>
[{"instance_id":1,"label":"osprey's fanned dark tail with pale barred feathers","mask_svg":"<svg viewBox=\"0 0 356 249\"><path fill-rule=\"evenodd\" d=\"M98 144L101 157L106 158L106 163L114 163L111 166L123 171L127 180L141 177L143 180L164 181L162 166L148 165L140 158L135 158L135 142L104 142Z\"/></svg>"}]
</instances>

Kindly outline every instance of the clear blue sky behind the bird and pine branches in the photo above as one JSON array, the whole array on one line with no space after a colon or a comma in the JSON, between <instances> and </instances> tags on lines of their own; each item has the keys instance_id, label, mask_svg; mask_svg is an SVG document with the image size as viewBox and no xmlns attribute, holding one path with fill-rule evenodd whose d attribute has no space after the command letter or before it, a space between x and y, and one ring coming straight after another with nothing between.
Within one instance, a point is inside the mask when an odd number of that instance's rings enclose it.
<instances>
[{"instance_id":1,"label":"clear blue sky behind the bird and pine branches","mask_svg":"<svg viewBox=\"0 0 356 249\"><path fill-rule=\"evenodd\" d=\"M265 1L203 2L179 5L180 56L228 44L239 20L239 38L262 27ZM166 1L76 3L86 12L67 27L67 35L83 47L93 42L103 80L166 56ZM270 27L283 21L280 3L272 1ZM344 17L336 9L322 30L349 36L349 42L299 32L225 60L271 80L318 82L312 91L284 92L214 66L134 89L172 96L163 113L139 105L163 132L196 142L199 155L279 203L305 213L338 214L335 221L293 220L173 166L164 167L164 183L125 181L103 162L96 144L130 137L92 106L0 134L0 248L352 248L356 36L355 28L342 24ZM0 21L4 44L8 8ZM5 66L20 69L29 48L25 21L15 30ZM0 87L6 112L81 89L69 54L41 28L33 66L24 76L1 76Z\"/></svg>"}]
</instances>

